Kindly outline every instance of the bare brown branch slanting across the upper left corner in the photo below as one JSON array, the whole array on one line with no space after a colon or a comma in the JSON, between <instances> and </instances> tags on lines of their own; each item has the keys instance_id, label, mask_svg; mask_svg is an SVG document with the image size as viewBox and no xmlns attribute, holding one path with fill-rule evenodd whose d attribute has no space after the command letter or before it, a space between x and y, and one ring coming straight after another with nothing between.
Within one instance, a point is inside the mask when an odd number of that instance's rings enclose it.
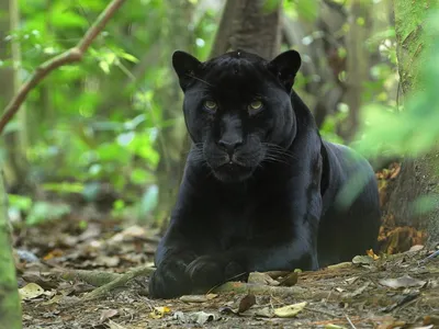
<instances>
[{"instance_id":1,"label":"bare brown branch slanting across the upper left corner","mask_svg":"<svg viewBox=\"0 0 439 329\"><path fill-rule=\"evenodd\" d=\"M14 116L14 114L19 111L29 92L34 89L35 86L40 83L40 81L42 81L49 72L52 72L56 68L66 64L80 61L82 59L83 54L90 47L91 43L99 35L99 33L101 33L109 20L125 1L126 0L113 0L112 2L110 2L110 4L99 15L98 20L93 23L93 25L91 25L82 39L75 47L43 63L36 68L35 72L20 88L19 93L14 95L14 98L4 109L3 115L0 118L0 134L3 132L4 126L12 118L12 116Z\"/></svg>"}]
</instances>

